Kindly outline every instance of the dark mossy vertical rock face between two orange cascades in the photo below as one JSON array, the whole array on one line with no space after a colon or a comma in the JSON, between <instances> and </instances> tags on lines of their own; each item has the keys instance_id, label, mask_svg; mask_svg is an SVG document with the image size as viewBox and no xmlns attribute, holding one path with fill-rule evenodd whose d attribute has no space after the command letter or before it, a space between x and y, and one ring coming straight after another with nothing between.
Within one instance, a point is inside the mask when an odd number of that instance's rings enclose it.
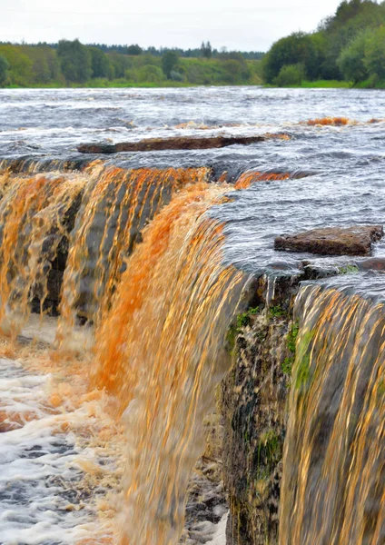
<instances>
[{"instance_id":1,"label":"dark mossy vertical rock face between two orange cascades","mask_svg":"<svg viewBox=\"0 0 385 545\"><path fill-rule=\"evenodd\" d=\"M222 381L223 472L230 545L278 543L281 457L291 377L290 305L244 312L233 332L233 366ZM284 310L283 310L284 309ZM292 342L292 340L291 340ZM295 342L295 340L294 340Z\"/></svg>"}]
</instances>

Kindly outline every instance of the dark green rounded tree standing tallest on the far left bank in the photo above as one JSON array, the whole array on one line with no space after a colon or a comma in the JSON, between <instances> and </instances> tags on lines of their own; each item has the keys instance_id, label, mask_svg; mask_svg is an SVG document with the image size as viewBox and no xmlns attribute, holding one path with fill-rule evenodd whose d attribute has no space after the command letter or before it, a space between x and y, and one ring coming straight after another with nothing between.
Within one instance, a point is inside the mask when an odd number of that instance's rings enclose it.
<instances>
[{"instance_id":1,"label":"dark green rounded tree standing tallest on the far left bank","mask_svg":"<svg viewBox=\"0 0 385 545\"><path fill-rule=\"evenodd\" d=\"M61 40L57 46L62 72L67 82L84 84L93 71L91 53L79 40Z\"/></svg>"}]
</instances>

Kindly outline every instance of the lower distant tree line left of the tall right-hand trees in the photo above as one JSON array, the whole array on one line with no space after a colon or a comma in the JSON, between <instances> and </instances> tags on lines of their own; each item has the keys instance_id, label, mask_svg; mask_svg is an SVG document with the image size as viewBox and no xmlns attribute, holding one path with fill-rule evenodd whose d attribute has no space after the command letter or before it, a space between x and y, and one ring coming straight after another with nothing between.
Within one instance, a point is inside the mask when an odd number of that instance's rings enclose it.
<instances>
[{"instance_id":1,"label":"lower distant tree line left of the tall right-hand trees","mask_svg":"<svg viewBox=\"0 0 385 545\"><path fill-rule=\"evenodd\" d=\"M259 84L262 53L139 45L0 43L1 86Z\"/></svg>"}]
</instances>

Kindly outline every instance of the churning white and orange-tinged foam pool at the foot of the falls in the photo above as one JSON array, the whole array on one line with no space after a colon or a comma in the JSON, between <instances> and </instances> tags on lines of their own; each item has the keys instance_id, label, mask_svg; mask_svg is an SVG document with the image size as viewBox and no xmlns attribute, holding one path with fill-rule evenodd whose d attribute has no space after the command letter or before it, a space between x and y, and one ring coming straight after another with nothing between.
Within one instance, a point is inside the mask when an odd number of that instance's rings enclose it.
<instances>
[{"instance_id":1,"label":"churning white and orange-tinged foam pool at the foot of the falls","mask_svg":"<svg viewBox=\"0 0 385 545\"><path fill-rule=\"evenodd\" d=\"M0 543L111 542L121 442L107 400L76 362L18 353L0 359Z\"/></svg>"}]
</instances>

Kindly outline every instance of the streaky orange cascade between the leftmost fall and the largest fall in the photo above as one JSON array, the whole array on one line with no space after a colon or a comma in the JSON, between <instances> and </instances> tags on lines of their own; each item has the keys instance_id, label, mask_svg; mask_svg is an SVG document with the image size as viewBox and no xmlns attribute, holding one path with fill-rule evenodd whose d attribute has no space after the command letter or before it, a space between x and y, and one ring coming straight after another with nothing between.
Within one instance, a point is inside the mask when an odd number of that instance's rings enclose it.
<instances>
[{"instance_id":1,"label":"streaky orange cascade between the leftmost fall and the largest fall","mask_svg":"<svg viewBox=\"0 0 385 545\"><path fill-rule=\"evenodd\" d=\"M207 174L205 168L126 171L107 167L87 185L64 272L61 314L65 328L72 331L76 316L101 322L145 224L174 193Z\"/></svg>"}]
</instances>

